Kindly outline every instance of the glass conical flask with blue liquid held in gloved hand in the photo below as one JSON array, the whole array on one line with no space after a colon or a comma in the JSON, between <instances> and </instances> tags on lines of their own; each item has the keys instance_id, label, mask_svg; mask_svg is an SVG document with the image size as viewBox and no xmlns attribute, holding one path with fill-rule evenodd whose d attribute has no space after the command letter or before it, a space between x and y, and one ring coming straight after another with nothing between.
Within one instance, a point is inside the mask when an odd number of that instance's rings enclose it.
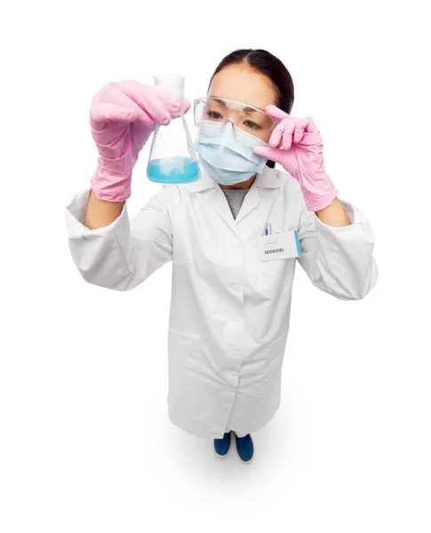
<instances>
[{"instance_id":1,"label":"glass conical flask with blue liquid held in gloved hand","mask_svg":"<svg viewBox=\"0 0 431 533\"><path fill-rule=\"evenodd\" d=\"M184 76L161 74L154 76L156 85L170 91L183 101ZM188 183L200 176L199 164L181 105L178 114L171 114L171 122L156 124L148 158L147 176L157 183Z\"/></svg>"}]
</instances>

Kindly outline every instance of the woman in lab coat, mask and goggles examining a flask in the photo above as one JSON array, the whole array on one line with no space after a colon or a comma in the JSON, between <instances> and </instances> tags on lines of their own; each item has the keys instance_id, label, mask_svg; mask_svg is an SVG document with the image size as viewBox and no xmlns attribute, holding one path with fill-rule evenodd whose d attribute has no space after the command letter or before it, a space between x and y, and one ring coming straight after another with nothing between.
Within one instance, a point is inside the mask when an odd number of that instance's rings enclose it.
<instances>
[{"instance_id":1,"label":"woman in lab coat, mask and goggles examining a flask","mask_svg":"<svg viewBox=\"0 0 431 533\"><path fill-rule=\"evenodd\" d=\"M92 101L92 187L66 210L87 282L130 290L172 260L169 417L212 438L219 457L233 432L244 463L251 433L280 403L296 260L340 299L363 298L378 276L368 220L339 200L320 133L310 117L291 117L292 105L291 76L275 56L227 55L195 104L201 178L163 187L129 219L133 165L180 102L161 87L108 84Z\"/></svg>"}]
</instances>

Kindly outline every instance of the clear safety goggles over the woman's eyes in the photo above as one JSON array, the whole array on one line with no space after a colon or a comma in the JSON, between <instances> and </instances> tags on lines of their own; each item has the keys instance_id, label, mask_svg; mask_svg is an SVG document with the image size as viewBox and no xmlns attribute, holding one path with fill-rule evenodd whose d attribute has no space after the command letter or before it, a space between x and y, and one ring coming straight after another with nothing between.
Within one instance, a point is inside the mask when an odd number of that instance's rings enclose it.
<instances>
[{"instance_id":1,"label":"clear safety goggles over the woman's eyes","mask_svg":"<svg viewBox=\"0 0 431 533\"><path fill-rule=\"evenodd\" d=\"M207 135L217 136L232 123L240 130L267 141L274 131L277 122L267 115L263 109L254 107L235 99L208 96L196 99L194 103L194 120L198 130L207 121L219 124L219 127L207 129Z\"/></svg>"}]
</instances>

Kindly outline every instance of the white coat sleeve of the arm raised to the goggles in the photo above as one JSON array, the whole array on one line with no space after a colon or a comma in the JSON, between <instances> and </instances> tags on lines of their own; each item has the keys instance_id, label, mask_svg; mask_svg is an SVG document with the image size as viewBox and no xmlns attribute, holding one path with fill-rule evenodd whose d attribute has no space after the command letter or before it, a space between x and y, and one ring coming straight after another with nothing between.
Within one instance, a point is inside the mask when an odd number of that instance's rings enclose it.
<instances>
[{"instance_id":1,"label":"white coat sleeve of the arm raised to the goggles","mask_svg":"<svg viewBox=\"0 0 431 533\"><path fill-rule=\"evenodd\" d=\"M375 286L379 268L372 251L375 235L363 213L340 200L351 225L331 227L304 206L299 219L297 259L311 282L343 300L364 298Z\"/></svg>"}]
</instances>

